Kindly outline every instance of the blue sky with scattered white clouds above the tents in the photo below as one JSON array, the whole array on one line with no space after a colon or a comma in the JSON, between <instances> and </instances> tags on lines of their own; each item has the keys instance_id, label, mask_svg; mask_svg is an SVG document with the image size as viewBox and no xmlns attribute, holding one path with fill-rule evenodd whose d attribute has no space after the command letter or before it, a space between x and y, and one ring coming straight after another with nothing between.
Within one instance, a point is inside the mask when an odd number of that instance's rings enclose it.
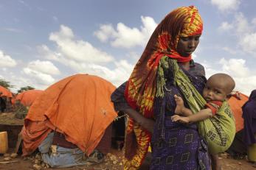
<instances>
[{"instance_id":1,"label":"blue sky with scattered white clouds above the tents","mask_svg":"<svg viewBox=\"0 0 256 170\"><path fill-rule=\"evenodd\" d=\"M204 31L193 59L207 77L256 89L255 0L0 1L0 78L46 89L74 74L125 82L153 30L177 7L198 7Z\"/></svg>"}]
</instances>

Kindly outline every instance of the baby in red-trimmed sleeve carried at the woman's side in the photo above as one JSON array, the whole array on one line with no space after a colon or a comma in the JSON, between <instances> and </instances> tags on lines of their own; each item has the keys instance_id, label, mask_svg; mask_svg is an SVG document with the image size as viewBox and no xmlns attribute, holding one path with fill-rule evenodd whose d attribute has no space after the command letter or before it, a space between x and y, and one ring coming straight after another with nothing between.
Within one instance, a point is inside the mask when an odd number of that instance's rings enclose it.
<instances>
[{"instance_id":1,"label":"baby in red-trimmed sleeve carried at the woman's side","mask_svg":"<svg viewBox=\"0 0 256 170\"><path fill-rule=\"evenodd\" d=\"M207 80L204 87L203 97L207 102L205 108L193 114L190 109L184 107L183 99L175 95L176 115L171 119L181 123L193 123L215 116L222 102L228 98L234 88L235 81L232 77L227 74L214 74Z\"/></svg>"}]
</instances>

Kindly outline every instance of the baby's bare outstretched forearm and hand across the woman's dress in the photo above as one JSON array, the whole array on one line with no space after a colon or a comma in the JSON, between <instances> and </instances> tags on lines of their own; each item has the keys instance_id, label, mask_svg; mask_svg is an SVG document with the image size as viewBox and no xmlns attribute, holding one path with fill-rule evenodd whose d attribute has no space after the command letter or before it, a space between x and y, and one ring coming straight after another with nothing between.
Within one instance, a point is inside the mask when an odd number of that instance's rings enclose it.
<instances>
[{"instance_id":1,"label":"baby's bare outstretched forearm and hand across the woman's dress","mask_svg":"<svg viewBox=\"0 0 256 170\"><path fill-rule=\"evenodd\" d=\"M212 110L209 108L202 109L198 113L183 117L179 115L172 116L171 119L172 121L180 121L181 123L193 123L197 121L204 121L207 118L212 117Z\"/></svg>"}]
</instances>

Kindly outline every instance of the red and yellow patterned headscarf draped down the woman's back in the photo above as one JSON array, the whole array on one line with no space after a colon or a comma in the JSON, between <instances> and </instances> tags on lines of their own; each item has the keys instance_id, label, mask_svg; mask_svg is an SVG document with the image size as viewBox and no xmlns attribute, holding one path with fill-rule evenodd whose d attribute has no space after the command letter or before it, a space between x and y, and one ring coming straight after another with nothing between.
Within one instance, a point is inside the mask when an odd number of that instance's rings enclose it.
<instances>
[{"instance_id":1,"label":"red and yellow patterned headscarf draped down the woman's back","mask_svg":"<svg viewBox=\"0 0 256 170\"><path fill-rule=\"evenodd\" d=\"M188 62L191 56L182 57L177 52L180 37L199 35L203 30L203 22L194 6L179 7L170 12L156 27L150 40L134 67L125 88L125 99L128 104L139 110L143 116L153 118L153 101L156 96L156 73L159 60L163 56ZM148 151L151 134L136 124L131 118L128 124L127 137L136 135L136 151L125 161L125 169L137 169ZM129 141L129 140L128 140ZM127 144L127 143L126 143ZM125 146L125 151L131 151ZM129 155L125 153L125 155Z\"/></svg>"}]
</instances>

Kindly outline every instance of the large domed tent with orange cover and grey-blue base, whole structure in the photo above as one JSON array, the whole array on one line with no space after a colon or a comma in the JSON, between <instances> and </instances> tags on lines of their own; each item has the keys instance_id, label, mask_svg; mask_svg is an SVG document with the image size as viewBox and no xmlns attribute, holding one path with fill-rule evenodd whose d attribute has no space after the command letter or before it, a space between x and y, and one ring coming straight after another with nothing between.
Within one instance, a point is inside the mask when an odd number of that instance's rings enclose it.
<instances>
[{"instance_id":1,"label":"large domed tent with orange cover and grey-blue base, whole structure","mask_svg":"<svg viewBox=\"0 0 256 170\"><path fill-rule=\"evenodd\" d=\"M22 154L36 149L51 167L99 163L111 146L111 123L117 117L111 82L76 74L51 85L35 99L24 127Z\"/></svg>"}]
</instances>

